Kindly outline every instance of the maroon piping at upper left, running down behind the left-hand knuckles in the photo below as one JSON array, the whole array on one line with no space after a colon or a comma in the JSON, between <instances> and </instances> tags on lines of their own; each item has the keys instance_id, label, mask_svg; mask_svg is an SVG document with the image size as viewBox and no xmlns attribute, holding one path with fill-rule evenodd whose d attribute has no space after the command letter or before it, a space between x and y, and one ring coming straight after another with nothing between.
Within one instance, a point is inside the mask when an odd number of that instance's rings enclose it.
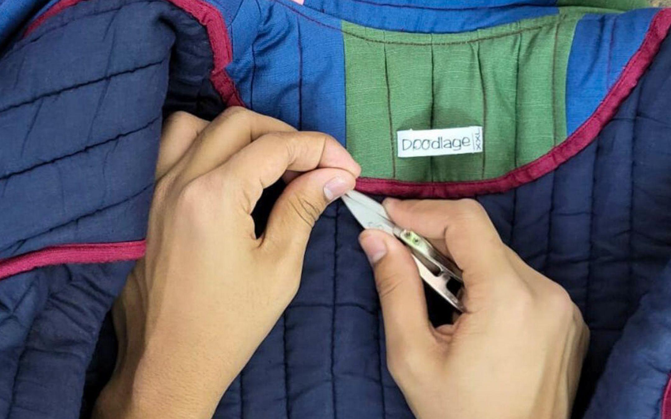
<instances>
[{"instance_id":1,"label":"maroon piping at upper left, running down behind the left-hand knuckles","mask_svg":"<svg viewBox=\"0 0 671 419\"><path fill-rule=\"evenodd\" d=\"M54 4L28 25L23 36L28 36L44 21L80 1L83 0L61 0ZM226 101L227 105L244 106L240 95L238 95L236 85L225 70L226 66L233 60L233 50L231 48L231 41L228 38L226 24L219 10L215 6L201 0L168 1L192 15L201 25L205 26L213 55L214 65L210 74L212 84L217 89L217 93L221 95L221 98Z\"/></svg>"}]
</instances>

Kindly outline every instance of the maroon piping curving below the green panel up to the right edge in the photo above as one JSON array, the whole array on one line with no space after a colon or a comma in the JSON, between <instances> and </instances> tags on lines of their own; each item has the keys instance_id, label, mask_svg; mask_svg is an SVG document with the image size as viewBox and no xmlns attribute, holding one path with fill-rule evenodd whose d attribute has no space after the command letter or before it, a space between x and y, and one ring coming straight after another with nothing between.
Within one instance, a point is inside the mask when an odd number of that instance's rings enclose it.
<instances>
[{"instance_id":1,"label":"maroon piping curving below the green panel up to the right edge","mask_svg":"<svg viewBox=\"0 0 671 419\"><path fill-rule=\"evenodd\" d=\"M650 23L646 39L631 57L617 83L601 105L576 131L548 154L494 179L472 182L404 182L393 179L359 178L356 188L370 194L386 194L406 198L460 198L477 194L505 192L531 182L555 170L575 156L599 135L613 119L617 109L627 99L638 80L646 72L671 26L671 9L662 9ZM671 419L669 418L664 419Z\"/></svg>"}]
</instances>

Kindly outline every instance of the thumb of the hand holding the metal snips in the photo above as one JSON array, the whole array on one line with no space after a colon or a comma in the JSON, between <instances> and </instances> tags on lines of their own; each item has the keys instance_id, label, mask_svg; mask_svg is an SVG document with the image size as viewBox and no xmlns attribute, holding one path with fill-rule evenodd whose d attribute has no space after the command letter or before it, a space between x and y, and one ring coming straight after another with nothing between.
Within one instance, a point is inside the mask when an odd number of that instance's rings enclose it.
<instances>
[{"instance_id":1,"label":"thumb of the hand holding the metal snips","mask_svg":"<svg viewBox=\"0 0 671 419\"><path fill-rule=\"evenodd\" d=\"M391 359L403 356L432 336L417 265L405 246L383 231L366 230L359 242L372 264L380 294L387 351Z\"/></svg>"}]
</instances>

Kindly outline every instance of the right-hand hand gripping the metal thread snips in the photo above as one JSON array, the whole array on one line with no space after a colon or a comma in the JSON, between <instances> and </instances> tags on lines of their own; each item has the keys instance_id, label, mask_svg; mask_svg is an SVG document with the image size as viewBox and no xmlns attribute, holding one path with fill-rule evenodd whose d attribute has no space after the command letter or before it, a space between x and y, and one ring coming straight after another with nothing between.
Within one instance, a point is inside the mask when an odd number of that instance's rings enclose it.
<instances>
[{"instance_id":1,"label":"right-hand hand gripping the metal thread snips","mask_svg":"<svg viewBox=\"0 0 671 419\"><path fill-rule=\"evenodd\" d=\"M384 206L464 271L466 312L433 328L409 251L382 231L360 237L380 294L389 370L415 415L568 418L589 331L566 291L504 245L474 200Z\"/></svg>"}]
</instances>

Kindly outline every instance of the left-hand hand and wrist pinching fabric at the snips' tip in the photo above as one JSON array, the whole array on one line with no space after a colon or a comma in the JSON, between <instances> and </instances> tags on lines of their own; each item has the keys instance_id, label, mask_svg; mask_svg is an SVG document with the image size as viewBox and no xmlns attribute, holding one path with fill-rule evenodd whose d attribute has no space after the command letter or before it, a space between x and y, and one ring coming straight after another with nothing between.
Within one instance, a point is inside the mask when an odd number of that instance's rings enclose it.
<instances>
[{"instance_id":1,"label":"left-hand hand and wrist pinching fabric at the snips' tip","mask_svg":"<svg viewBox=\"0 0 671 419\"><path fill-rule=\"evenodd\" d=\"M168 118L147 253L113 308L119 361L96 415L211 417L295 296L315 221L359 173L329 135L242 108ZM280 176L257 238L252 209Z\"/></svg>"}]
</instances>

